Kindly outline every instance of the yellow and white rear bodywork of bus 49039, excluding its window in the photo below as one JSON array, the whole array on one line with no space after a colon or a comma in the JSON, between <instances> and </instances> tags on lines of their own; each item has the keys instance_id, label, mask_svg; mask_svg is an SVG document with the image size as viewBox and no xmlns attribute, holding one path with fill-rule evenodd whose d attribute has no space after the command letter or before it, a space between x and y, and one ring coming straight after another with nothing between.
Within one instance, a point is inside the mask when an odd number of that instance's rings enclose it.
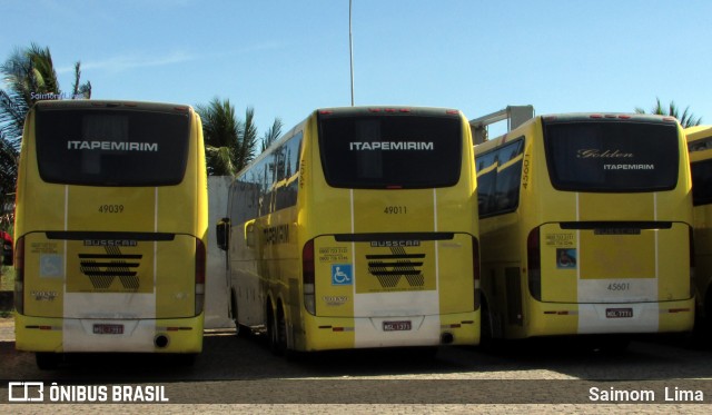
<instances>
[{"instance_id":1,"label":"yellow and white rear bodywork of bus 49039, excluding its window","mask_svg":"<svg viewBox=\"0 0 712 415\"><path fill-rule=\"evenodd\" d=\"M30 111L14 228L16 246L18 238L24 244L23 310L16 313L18 349L201 352L204 314L195 308L195 269L196 240L207 247L207 176L200 119L188 111L185 178L160 187L42 181L36 112ZM158 234L170 237L155 239ZM98 333L98 326L121 326L122 333ZM158 336L168 338L165 347L155 345Z\"/></svg>"}]
</instances>

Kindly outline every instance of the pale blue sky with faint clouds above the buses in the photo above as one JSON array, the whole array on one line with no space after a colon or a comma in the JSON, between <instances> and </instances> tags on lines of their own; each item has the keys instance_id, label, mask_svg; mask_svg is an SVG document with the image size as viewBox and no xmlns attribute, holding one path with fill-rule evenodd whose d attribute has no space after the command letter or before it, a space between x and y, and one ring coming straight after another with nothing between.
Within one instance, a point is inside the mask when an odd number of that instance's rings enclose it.
<instances>
[{"instance_id":1,"label":"pale blue sky with faint clouds above the buses","mask_svg":"<svg viewBox=\"0 0 712 415\"><path fill-rule=\"evenodd\" d=\"M660 98L712 123L712 1L352 1L356 106L474 119ZM255 109L260 136L352 101L349 0L2 0L0 21L0 61L49 47L62 89L80 61L92 99L229 99L241 119Z\"/></svg>"}]
</instances>

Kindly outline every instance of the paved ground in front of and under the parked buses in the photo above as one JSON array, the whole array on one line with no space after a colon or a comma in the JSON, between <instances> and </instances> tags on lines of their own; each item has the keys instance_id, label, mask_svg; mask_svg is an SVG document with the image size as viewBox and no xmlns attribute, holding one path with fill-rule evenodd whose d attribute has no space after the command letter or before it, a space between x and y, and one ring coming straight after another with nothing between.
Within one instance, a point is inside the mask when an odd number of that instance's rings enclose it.
<instances>
[{"instance_id":1,"label":"paved ground in front of and under the parked buses","mask_svg":"<svg viewBox=\"0 0 712 415\"><path fill-rule=\"evenodd\" d=\"M567 352L556 343L484 353L441 348L435 358L407 350L275 357L254 338L210 332L192 367L156 356L82 356L41 372L32 354L14 350L13 323L0 318L0 413L704 413L712 409L712 350L634 342L629 353ZM527 347L528 347L527 346ZM700 381L704 379L704 381ZM160 385L179 404L6 404L6 382L59 386ZM654 403L591 404L590 388L651 389ZM669 404L662 389L703 389L703 404ZM535 404L541 402L541 404ZM516 404L518 403L518 404ZM554 403L554 404L552 404Z\"/></svg>"}]
</instances>

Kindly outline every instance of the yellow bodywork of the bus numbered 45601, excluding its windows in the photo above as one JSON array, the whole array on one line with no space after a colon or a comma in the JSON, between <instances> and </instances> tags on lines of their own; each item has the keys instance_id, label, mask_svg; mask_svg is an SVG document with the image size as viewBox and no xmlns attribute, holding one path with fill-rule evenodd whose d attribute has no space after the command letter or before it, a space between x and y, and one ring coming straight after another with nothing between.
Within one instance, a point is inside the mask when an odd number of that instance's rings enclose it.
<instances>
[{"instance_id":1,"label":"yellow bodywork of the bus numbered 45601, excluding its windows","mask_svg":"<svg viewBox=\"0 0 712 415\"><path fill-rule=\"evenodd\" d=\"M476 146L475 152L479 157L516 140L524 140L518 206L514 211L481 219L482 288L494 336L692 329L691 184L682 139L675 189L642 194L554 189L541 116L506 136ZM490 171L491 167L484 167L478 176ZM639 235L601 235L594 229L560 225L610 221L672 225L669 229L641 229ZM527 270L527 237L534 228L540 229L540 300L531 293ZM612 317L616 313L622 317Z\"/></svg>"}]
</instances>

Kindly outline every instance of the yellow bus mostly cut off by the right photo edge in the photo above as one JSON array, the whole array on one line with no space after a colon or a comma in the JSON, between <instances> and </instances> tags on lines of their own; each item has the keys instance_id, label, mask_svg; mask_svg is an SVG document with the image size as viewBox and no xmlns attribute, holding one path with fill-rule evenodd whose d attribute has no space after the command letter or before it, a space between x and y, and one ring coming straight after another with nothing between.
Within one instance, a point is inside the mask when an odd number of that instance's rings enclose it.
<instances>
[{"instance_id":1,"label":"yellow bus mostly cut off by the right photo edge","mask_svg":"<svg viewBox=\"0 0 712 415\"><path fill-rule=\"evenodd\" d=\"M695 298L701 332L712 325L712 126L685 129L694 205Z\"/></svg>"}]
</instances>

